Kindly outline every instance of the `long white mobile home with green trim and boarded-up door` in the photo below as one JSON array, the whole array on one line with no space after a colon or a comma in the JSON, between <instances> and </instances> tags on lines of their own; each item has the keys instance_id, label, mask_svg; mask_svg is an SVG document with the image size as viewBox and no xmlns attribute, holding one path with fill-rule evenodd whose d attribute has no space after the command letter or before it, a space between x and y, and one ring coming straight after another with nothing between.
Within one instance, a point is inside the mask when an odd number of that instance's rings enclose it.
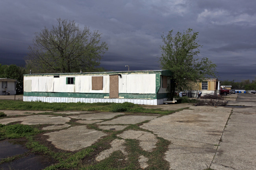
<instances>
[{"instance_id":1,"label":"long white mobile home with green trim and boarded-up door","mask_svg":"<svg viewBox=\"0 0 256 170\"><path fill-rule=\"evenodd\" d=\"M163 104L170 70L24 75L23 101Z\"/></svg>"}]
</instances>

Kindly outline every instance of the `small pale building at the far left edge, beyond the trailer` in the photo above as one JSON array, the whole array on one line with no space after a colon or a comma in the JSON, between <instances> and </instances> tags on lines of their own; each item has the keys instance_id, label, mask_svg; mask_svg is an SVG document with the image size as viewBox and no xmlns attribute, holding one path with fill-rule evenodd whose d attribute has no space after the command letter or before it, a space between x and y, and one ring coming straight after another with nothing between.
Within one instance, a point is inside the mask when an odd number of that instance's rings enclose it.
<instances>
[{"instance_id":1,"label":"small pale building at the far left edge, beyond the trailer","mask_svg":"<svg viewBox=\"0 0 256 170\"><path fill-rule=\"evenodd\" d=\"M1 78L0 79L0 95L16 95L16 79Z\"/></svg>"}]
</instances>

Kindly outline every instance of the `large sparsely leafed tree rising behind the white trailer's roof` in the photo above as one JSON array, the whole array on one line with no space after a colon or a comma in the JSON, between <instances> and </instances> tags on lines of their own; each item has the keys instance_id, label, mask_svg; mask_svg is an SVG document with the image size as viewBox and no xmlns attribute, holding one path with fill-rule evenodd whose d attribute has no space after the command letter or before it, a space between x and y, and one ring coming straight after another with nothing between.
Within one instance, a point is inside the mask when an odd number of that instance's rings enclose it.
<instances>
[{"instance_id":1,"label":"large sparsely leafed tree rising behind the white trailer's roof","mask_svg":"<svg viewBox=\"0 0 256 170\"><path fill-rule=\"evenodd\" d=\"M101 33L91 32L89 27L80 29L74 21L57 21L52 29L35 33L26 67L32 73L70 73L99 66L101 55L108 50L106 42L100 42Z\"/></svg>"}]
</instances>

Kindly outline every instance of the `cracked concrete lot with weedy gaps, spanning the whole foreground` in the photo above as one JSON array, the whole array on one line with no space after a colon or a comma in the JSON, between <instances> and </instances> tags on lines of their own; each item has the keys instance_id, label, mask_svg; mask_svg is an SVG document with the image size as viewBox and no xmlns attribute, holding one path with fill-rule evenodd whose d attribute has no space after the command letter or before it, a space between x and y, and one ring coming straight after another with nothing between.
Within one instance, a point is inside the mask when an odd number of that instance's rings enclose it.
<instances>
[{"instance_id":1,"label":"cracked concrete lot with weedy gaps, spanning the whole foreground","mask_svg":"<svg viewBox=\"0 0 256 170\"><path fill-rule=\"evenodd\" d=\"M147 152L147 155L137 157L139 166L147 169L150 166L148 155L156 149L158 139L163 138L170 143L163 157L170 170L256 170L256 95L235 94L228 95L226 99L230 106L143 106L163 110L188 108L164 116L76 111L62 112L64 116L54 116L9 112L9 115L20 116L2 118L0 123L22 121L23 124L50 124L44 127L44 135L48 137L46 140L56 148L68 151L91 146L106 137L110 131L115 131L116 139L110 142L110 148L95 156L97 162L119 150L127 158L129 153L125 143L133 139L137 140L143 152ZM77 124L69 124L71 118ZM145 121L148 122L140 125L141 129L126 130L130 124ZM94 124L102 131L89 129L87 124Z\"/></svg>"}]
</instances>

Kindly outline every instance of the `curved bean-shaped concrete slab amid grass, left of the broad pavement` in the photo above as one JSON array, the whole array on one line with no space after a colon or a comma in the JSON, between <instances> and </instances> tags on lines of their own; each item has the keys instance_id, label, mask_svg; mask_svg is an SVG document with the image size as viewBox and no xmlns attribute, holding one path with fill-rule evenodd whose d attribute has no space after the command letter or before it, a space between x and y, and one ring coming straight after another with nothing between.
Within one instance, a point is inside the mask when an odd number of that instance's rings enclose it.
<instances>
[{"instance_id":1,"label":"curved bean-shaped concrete slab amid grass, left of the broad pavement","mask_svg":"<svg viewBox=\"0 0 256 170\"><path fill-rule=\"evenodd\" d=\"M123 139L138 140L139 146L147 152L152 152L153 149L156 148L156 143L158 142L158 139L156 139L154 134L145 131L127 130L117 136Z\"/></svg>"}]
</instances>

